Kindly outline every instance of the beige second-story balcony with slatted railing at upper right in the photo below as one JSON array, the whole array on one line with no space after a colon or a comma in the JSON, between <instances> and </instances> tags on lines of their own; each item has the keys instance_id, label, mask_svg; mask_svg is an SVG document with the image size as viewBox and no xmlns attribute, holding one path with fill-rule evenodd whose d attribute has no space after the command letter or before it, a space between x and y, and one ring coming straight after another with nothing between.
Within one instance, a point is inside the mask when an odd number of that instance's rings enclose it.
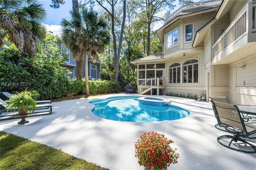
<instances>
[{"instance_id":1,"label":"beige second-story balcony with slatted railing at upper right","mask_svg":"<svg viewBox=\"0 0 256 170\"><path fill-rule=\"evenodd\" d=\"M256 54L256 2L247 4L212 46L212 64Z\"/></svg>"}]
</instances>

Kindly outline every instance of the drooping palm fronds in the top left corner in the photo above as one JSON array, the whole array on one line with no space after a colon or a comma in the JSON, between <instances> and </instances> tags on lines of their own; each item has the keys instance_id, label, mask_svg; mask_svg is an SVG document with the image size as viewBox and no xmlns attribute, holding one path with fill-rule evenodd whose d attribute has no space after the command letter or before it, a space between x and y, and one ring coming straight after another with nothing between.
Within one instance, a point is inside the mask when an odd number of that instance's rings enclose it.
<instances>
[{"instance_id":1,"label":"drooping palm fronds in the top left corner","mask_svg":"<svg viewBox=\"0 0 256 170\"><path fill-rule=\"evenodd\" d=\"M36 44L45 36L45 28L41 24L45 18L46 11L35 0L0 0L0 45L3 45L5 37L21 53L33 55Z\"/></svg>"}]
</instances>

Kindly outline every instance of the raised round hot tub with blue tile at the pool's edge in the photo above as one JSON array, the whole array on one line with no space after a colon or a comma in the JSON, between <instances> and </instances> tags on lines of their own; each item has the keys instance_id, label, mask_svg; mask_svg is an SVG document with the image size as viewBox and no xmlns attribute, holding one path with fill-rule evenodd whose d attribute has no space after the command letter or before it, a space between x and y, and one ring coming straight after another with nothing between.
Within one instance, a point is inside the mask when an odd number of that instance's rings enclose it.
<instances>
[{"instance_id":1,"label":"raised round hot tub with blue tile at the pool's edge","mask_svg":"<svg viewBox=\"0 0 256 170\"><path fill-rule=\"evenodd\" d=\"M162 99L158 97L140 97L138 100L139 104L149 106L168 106L171 103L170 99Z\"/></svg>"}]
</instances>

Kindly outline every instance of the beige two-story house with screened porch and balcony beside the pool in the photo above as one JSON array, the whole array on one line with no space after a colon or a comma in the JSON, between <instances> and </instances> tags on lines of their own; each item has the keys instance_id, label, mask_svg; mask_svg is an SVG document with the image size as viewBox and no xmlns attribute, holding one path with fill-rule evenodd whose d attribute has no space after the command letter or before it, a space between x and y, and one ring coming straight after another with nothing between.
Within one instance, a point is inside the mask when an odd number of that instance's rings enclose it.
<instances>
[{"instance_id":1,"label":"beige two-story house with screened porch and balcony beside the pool","mask_svg":"<svg viewBox=\"0 0 256 170\"><path fill-rule=\"evenodd\" d=\"M157 35L163 54L139 58L139 94L226 96L256 104L256 1L181 6Z\"/></svg>"}]
</instances>

